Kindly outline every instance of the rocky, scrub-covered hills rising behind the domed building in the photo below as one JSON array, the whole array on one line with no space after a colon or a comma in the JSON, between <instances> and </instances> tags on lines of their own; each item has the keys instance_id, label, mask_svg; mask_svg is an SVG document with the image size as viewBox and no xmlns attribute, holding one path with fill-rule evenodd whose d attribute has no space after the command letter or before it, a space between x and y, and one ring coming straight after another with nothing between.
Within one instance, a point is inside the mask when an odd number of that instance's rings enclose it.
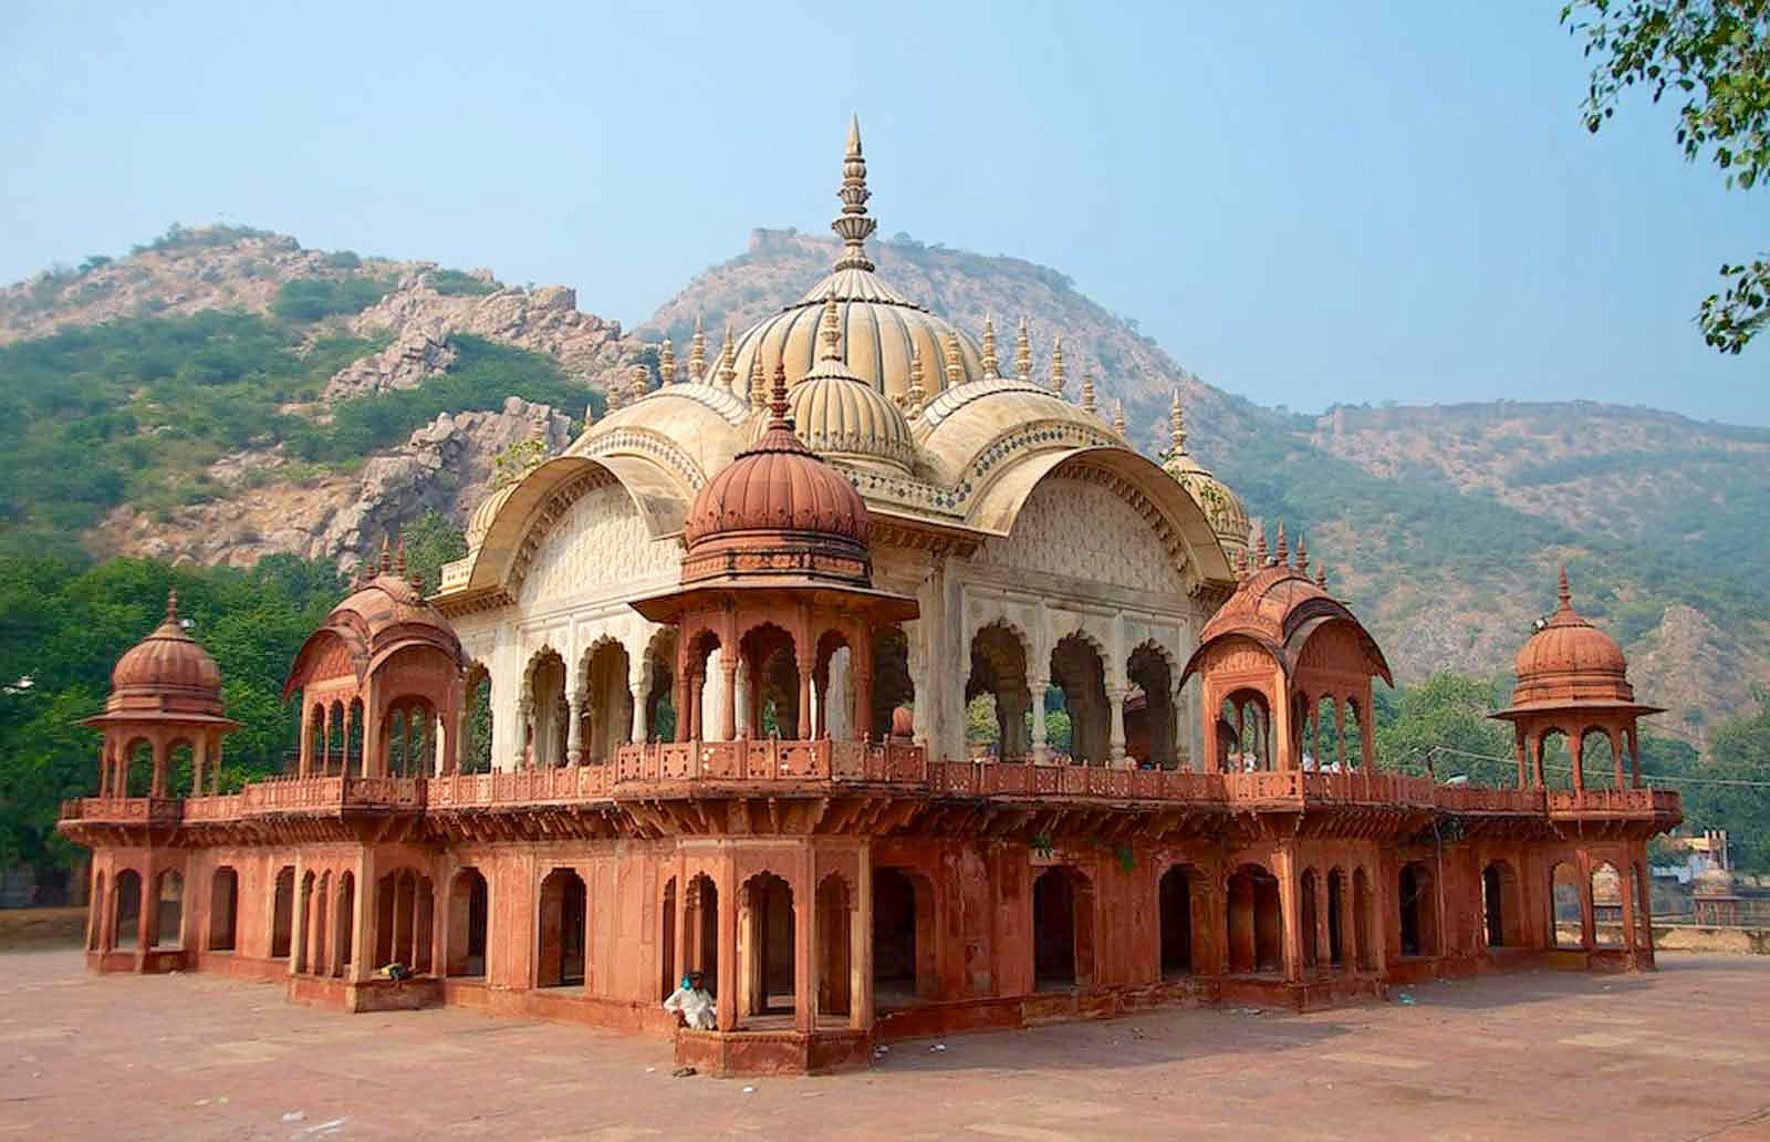
<instances>
[{"instance_id":1,"label":"rocky, scrub-covered hills rising behind the domed building","mask_svg":"<svg viewBox=\"0 0 1770 1142\"><path fill-rule=\"evenodd\" d=\"M512 443L563 446L589 390L653 361L660 335L681 359L701 315L717 347L726 322L742 329L796 299L834 251L756 230L632 333L559 287L250 230L173 232L14 285L0 290L14 421L0 446L37 471L90 441L115 480L73 489L83 513L46 508L53 489L18 480L0 503L0 551L62 528L94 554L352 563L427 510L462 519ZM993 313L1011 331L1025 315L1039 375L1062 333L1069 391L1092 370L1103 414L1124 400L1149 453L1168 446L1179 390L1189 448L1255 515L1308 535L1404 683L1441 667L1506 671L1563 561L1581 609L1628 650L1637 689L1673 708L1667 729L1699 738L1770 683L1758 574L1770 538L1756 526L1770 510L1770 430L1584 402L1264 409L1195 377L1053 269L903 237L873 253L904 296L965 328ZM50 391L58 384L78 395ZM205 420L216 405L232 409L225 423Z\"/></svg>"}]
</instances>

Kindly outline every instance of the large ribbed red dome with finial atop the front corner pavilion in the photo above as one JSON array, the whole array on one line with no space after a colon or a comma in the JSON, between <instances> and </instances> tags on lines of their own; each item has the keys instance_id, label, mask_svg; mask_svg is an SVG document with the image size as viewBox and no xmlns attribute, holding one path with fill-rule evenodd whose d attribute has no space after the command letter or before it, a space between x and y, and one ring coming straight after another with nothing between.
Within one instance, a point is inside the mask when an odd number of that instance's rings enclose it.
<instances>
[{"instance_id":1,"label":"large ribbed red dome with finial atop the front corner pavilion","mask_svg":"<svg viewBox=\"0 0 1770 1142\"><path fill-rule=\"evenodd\" d=\"M828 579L866 586L871 522L860 492L793 434L786 372L775 368L773 420L713 476L683 522L683 583Z\"/></svg>"}]
</instances>

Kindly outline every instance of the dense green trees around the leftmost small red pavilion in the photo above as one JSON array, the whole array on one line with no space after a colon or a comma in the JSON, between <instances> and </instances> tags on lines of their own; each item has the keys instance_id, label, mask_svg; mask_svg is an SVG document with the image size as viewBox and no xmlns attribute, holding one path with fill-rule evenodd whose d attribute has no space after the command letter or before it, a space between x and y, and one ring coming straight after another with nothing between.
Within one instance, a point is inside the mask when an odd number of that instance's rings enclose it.
<instances>
[{"instance_id":1,"label":"dense green trees around the leftmost small red pavilion","mask_svg":"<svg viewBox=\"0 0 1770 1142\"><path fill-rule=\"evenodd\" d=\"M278 772L297 745L283 676L306 636L338 602L336 570L271 556L251 570L172 568L112 559L0 558L0 864L58 864L60 802L97 786L99 735L78 724L104 706L110 669L159 623L166 590L221 667L228 714L223 788Z\"/></svg>"}]
</instances>

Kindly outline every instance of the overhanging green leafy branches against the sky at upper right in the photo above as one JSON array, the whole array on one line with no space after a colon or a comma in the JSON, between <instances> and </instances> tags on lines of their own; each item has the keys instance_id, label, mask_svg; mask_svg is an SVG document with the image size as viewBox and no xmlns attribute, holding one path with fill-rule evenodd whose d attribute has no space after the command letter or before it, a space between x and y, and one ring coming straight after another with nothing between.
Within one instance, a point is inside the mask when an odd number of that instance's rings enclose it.
<instances>
[{"instance_id":1,"label":"overhanging green leafy branches against the sky at upper right","mask_svg":"<svg viewBox=\"0 0 1770 1142\"><path fill-rule=\"evenodd\" d=\"M1678 145L1726 186L1752 189L1770 166L1770 0L1572 0L1561 23L1597 58L1581 115L1597 133L1632 87L1682 99ZM1703 301L1703 340L1738 352L1770 319L1770 255L1722 266Z\"/></svg>"}]
</instances>

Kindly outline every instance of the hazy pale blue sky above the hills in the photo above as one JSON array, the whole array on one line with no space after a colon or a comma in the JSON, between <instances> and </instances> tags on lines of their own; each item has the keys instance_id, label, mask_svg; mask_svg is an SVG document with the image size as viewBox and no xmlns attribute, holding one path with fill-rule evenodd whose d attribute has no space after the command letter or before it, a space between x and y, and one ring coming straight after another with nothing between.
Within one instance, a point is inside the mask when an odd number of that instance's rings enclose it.
<instances>
[{"instance_id":1,"label":"hazy pale blue sky above the hills","mask_svg":"<svg viewBox=\"0 0 1770 1142\"><path fill-rule=\"evenodd\" d=\"M172 221L490 266L643 320L750 227L1055 266L1262 404L1591 398L1770 423L1690 324L1765 198L1558 4L0 5L0 278Z\"/></svg>"}]
</instances>

